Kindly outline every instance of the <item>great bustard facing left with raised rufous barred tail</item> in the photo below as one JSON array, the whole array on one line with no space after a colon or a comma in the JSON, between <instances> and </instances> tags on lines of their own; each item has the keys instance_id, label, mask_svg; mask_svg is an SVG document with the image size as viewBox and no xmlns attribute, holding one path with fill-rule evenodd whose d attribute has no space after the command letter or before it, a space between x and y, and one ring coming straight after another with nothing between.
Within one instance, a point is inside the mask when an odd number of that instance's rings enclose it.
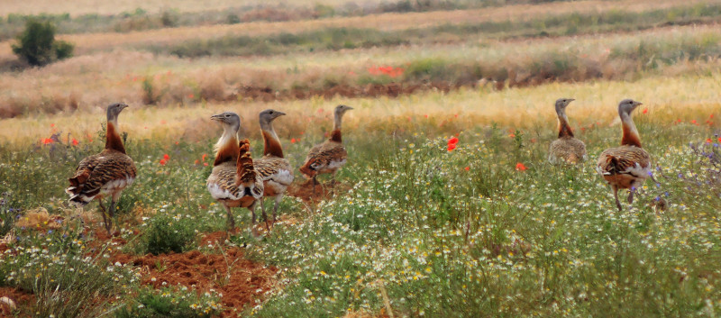
<instances>
[{"instance_id":1,"label":"great bustard facing left with raised rufous barred tail","mask_svg":"<svg viewBox=\"0 0 721 318\"><path fill-rule=\"evenodd\" d=\"M207 179L210 195L223 204L228 214L228 230L235 227L232 207L247 207L251 210L252 224L255 225L255 205L263 195L263 181L253 169L250 143L238 141L241 117L226 112L211 117L223 125L223 135L215 143L213 172Z\"/></svg>"}]
</instances>

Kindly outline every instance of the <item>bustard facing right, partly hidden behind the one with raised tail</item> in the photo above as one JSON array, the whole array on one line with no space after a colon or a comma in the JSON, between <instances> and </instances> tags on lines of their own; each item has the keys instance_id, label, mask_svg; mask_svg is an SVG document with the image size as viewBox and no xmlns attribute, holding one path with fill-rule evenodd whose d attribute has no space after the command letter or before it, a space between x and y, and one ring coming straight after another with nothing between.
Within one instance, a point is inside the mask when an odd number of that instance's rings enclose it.
<instances>
[{"instance_id":1,"label":"bustard facing right, partly hidden behind the one with raised tail","mask_svg":"<svg viewBox=\"0 0 721 318\"><path fill-rule=\"evenodd\" d=\"M260 208L265 215L265 205L263 200L265 197L272 196L275 198L273 206L273 223L276 222L278 214L278 204L286 194L287 187L293 183L293 168L290 162L283 157L283 148L280 146L278 134L273 129L272 122L274 119L285 115L285 113L276 110L267 109L260 112L260 133L263 135L263 157L253 162L256 171L260 173L263 179L264 193L260 199Z\"/></svg>"}]
</instances>

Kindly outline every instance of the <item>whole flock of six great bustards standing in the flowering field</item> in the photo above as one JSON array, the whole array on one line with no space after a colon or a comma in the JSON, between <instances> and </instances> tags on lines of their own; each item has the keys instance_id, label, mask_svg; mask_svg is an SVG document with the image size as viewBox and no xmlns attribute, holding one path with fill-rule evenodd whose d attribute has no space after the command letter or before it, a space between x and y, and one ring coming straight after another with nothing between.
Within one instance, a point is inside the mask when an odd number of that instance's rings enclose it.
<instances>
[{"instance_id":1,"label":"whole flock of six great bustards standing in the flowering field","mask_svg":"<svg viewBox=\"0 0 721 318\"><path fill-rule=\"evenodd\" d=\"M548 160L552 164L576 164L588 159L586 145L576 139L570 127L566 107L572 98L560 98L555 103L558 115L558 139L551 142ZM621 145L609 148L598 156L596 170L613 191L616 207L622 210L618 190L628 189L628 203L632 204L634 193L651 176L651 157L641 146L641 138L631 118L631 113L641 103L625 99L618 104L618 115L622 123ZM132 184L137 169L125 153L123 141L117 130L118 115L127 104L110 104L107 107L107 132L105 150L83 159L78 164L74 177L68 179L70 186L65 192L70 195L71 204L80 207L93 200L103 214L105 230L110 234L113 227L115 204L123 189ZM315 188L319 174L331 174L331 186L335 183L335 172L347 162L348 153L342 144L342 116L353 109L340 104L333 113L333 131L327 141L315 145L308 151L305 163L299 168L304 177L311 179ZM227 213L227 228L233 230L235 222L231 208L244 207L251 211L251 232L258 235L255 207L260 203L261 214L269 230L278 220L278 204L293 183L294 173L290 162L283 155L273 121L285 113L268 109L260 112L260 133L263 137L263 156L252 159L250 141L239 138L241 118L238 114L225 112L214 114L211 119L223 127L223 134L214 145L213 171L207 178L206 186L210 195L224 206ZM103 198L110 197L110 208L103 205ZM263 200L274 198L272 219L265 212Z\"/></svg>"}]
</instances>

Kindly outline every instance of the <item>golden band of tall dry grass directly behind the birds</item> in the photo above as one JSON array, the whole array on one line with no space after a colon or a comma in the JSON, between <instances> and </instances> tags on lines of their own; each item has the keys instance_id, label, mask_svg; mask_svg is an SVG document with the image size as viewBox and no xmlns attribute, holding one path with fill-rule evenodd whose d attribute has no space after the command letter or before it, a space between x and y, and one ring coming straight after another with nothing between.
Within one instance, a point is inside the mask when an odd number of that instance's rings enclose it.
<instances>
[{"instance_id":1,"label":"golden band of tall dry grass directly behind the birds","mask_svg":"<svg viewBox=\"0 0 721 318\"><path fill-rule=\"evenodd\" d=\"M336 104L349 104L355 109L343 120L350 134L384 132L402 137L424 132L428 137L469 130L497 123L505 130L523 129L538 136L551 136L555 129L553 101L561 96L573 97L568 111L571 125L581 136L586 129L598 125L617 124L616 106L623 98L642 101L648 113L644 118L658 124L696 121L709 125L709 114L721 115L721 74L709 76L646 77L634 82L600 80L591 83L554 83L543 86L493 91L487 88L462 89L449 94L427 92L392 98L361 98L332 100L310 99L275 103L200 104L195 107L131 107L120 118L121 130L132 139L156 141L206 141L218 133L210 121L212 114L233 111L242 117L242 134L260 138L258 114L273 108L287 113L278 120L276 129L281 139L324 139L332 128L330 110ZM77 138L86 142L96 139L100 123L105 119L103 107L87 112L56 114L37 118L0 121L0 144L24 147L38 144L52 133L60 133L65 141ZM719 123L711 123L718 129ZM645 136L652 138L652 136Z\"/></svg>"}]
</instances>

